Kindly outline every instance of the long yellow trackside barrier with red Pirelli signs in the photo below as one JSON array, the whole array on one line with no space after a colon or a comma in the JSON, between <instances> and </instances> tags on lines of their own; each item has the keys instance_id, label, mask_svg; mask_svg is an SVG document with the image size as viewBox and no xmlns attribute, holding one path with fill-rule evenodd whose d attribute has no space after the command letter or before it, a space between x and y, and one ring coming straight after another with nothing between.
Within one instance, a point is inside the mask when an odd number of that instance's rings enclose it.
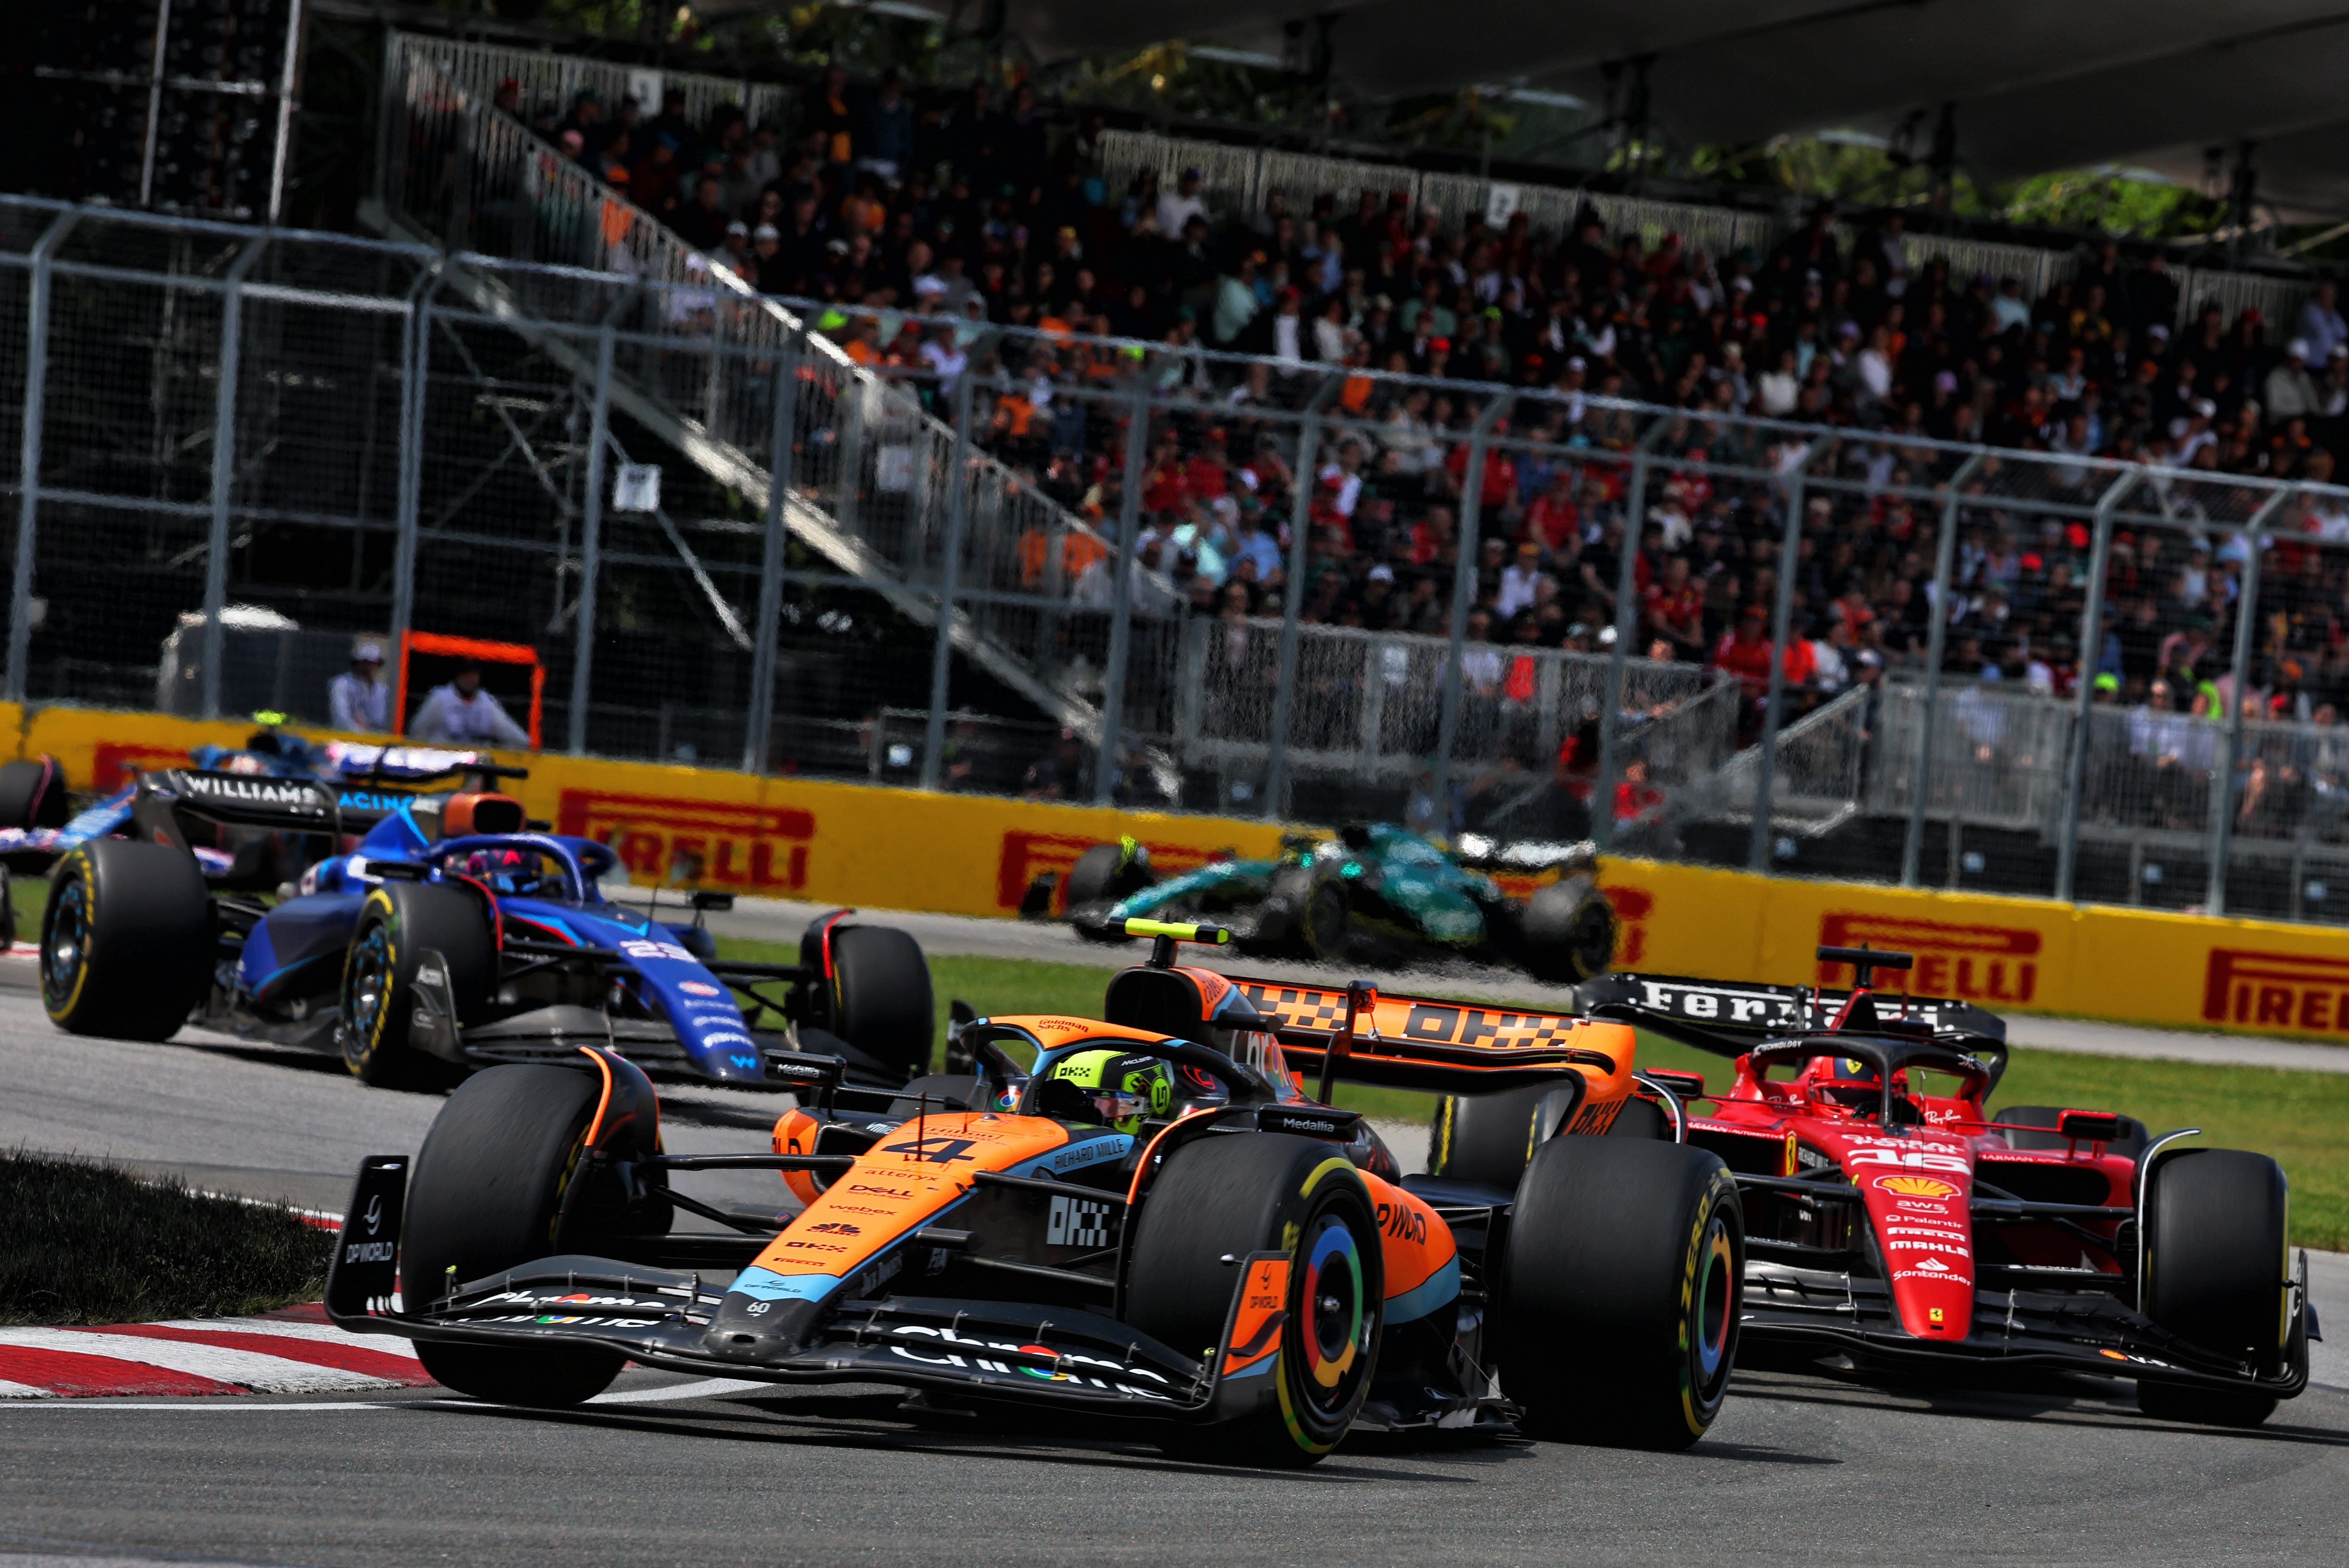
<instances>
[{"instance_id":1,"label":"long yellow trackside barrier with red Pirelli signs","mask_svg":"<svg viewBox=\"0 0 2349 1568\"><path fill-rule=\"evenodd\" d=\"M235 746L249 723L0 704L14 756L56 756L75 789ZM324 739L324 737L319 737ZM1280 829L1224 817L1095 810L991 796L754 777L714 768L510 756L529 812L618 850L637 883L740 894L1012 915L1038 871L1090 845L1149 845L1160 871L1214 854L1264 857ZM2349 1045L2349 932L2210 920L2044 899L1802 883L1743 871L1609 859L1616 967L1703 979L1849 984L1820 946L1917 955L1907 984L1992 1012L2055 1012L2189 1030ZM1898 984L1898 976L1886 976Z\"/></svg>"}]
</instances>

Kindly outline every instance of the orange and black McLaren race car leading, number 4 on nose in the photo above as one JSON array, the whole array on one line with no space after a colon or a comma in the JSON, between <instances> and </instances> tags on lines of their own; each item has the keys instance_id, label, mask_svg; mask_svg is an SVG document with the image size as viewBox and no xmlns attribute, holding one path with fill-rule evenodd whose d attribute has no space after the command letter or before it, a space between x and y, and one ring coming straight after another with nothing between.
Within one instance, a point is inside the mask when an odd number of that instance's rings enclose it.
<instances>
[{"instance_id":1,"label":"orange and black McLaren race car leading, number 4 on nose","mask_svg":"<svg viewBox=\"0 0 2349 1568\"><path fill-rule=\"evenodd\" d=\"M965 1019L968 1075L860 1094L836 1059L770 1049L801 1087L770 1150L665 1155L651 1082L606 1049L489 1068L413 1174L362 1164L327 1310L510 1404L573 1404L639 1361L1142 1418L1167 1451L1261 1465L1355 1427L1705 1432L1736 1354L1738 1192L1670 1131L1593 1136L1668 1127L1628 1026L1238 979L1174 962L1217 927L1132 932L1156 951L1099 1019ZM1534 1091L1539 1143L1506 1183L1405 1176L1327 1103L1339 1077ZM672 1185L714 1167L775 1169L803 1209L778 1230Z\"/></svg>"}]
</instances>

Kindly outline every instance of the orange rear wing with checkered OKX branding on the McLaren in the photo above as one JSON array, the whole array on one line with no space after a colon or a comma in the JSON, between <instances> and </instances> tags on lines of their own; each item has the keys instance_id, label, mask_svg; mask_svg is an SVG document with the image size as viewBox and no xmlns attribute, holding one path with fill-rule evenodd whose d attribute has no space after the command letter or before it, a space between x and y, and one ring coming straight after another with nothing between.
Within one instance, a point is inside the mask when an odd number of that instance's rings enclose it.
<instances>
[{"instance_id":1,"label":"orange rear wing with checkered OKX branding on the McLaren","mask_svg":"<svg viewBox=\"0 0 2349 1568\"><path fill-rule=\"evenodd\" d=\"M1494 1094L1630 1075L1633 1035L1564 1012L1226 974L1292 1068L1391 1089ZM1353 1028L1348 1030L1348 1014Z\"/></svg>"}]
</instances>

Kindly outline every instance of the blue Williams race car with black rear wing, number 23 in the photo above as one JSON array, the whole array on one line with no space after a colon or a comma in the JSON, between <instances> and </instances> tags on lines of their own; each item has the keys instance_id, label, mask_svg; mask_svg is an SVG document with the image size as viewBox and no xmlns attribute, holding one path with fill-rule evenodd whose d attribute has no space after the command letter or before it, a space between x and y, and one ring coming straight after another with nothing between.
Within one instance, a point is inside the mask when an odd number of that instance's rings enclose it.
<instances>
[{"instance_id":1,"label":"blue Williams race car with black rear wing, number 23","mask_svg":"<svg viewBox=\"0 0 2349 1568\"><path fill-rule=\"evenodd\" d=\"M371 1084L611 1047L653 1077L787 1089L766 1052L836 1056L902 1087L930 1059L930 969L904 932L834 911L801 962L721 962L700 913L613 904L608 845L536 831L470 753L376 758L366 777L141 775L113 833L49 871L40 986L78 1035L167 1040L183 1023L331 1049ZM467 789L425 791L435 779ZM334 850L275 904L211 890L197 845L261 829ZM695 894L695 911L726 894Z\"/></svg>"}]
</instances>

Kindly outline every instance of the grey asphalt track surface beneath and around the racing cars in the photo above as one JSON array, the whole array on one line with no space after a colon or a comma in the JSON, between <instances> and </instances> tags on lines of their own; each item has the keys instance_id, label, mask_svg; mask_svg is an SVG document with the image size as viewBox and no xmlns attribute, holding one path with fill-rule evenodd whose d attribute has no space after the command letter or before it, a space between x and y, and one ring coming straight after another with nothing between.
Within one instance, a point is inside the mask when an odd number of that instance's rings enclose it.
<instances>
[{"instance_id":1,"label":"grey asphalt track surface beneath and around the racing cars","mask_svg":"<svg viewBox=\"0 0 2349 1568\"><path fill-rule=\"evenodd\" d=\"M1005 932L1038 941L1017 955L1085 953L1064 932ZM439 1103L193 1030L160 1047L68 1040L31 979L0 965L0 1148L341 1209L352 1164L418 1148ZM665 1096L665 1124L679 1150L756 1148L775 1108L684 1091ZM778 1202L763 1174L728 1178L742 1185L714 1195ZM1745 1368L1712 1434L1680 1455L1355 1441L1304 1474L1170 1462L1135 1432L914 1425L876 1387L644 1371L557 1415L399 1392L0 1401L0 1568L2340 1561L2349 1258L2311 1263L2342 1350L2318 1345L2316 1385L2255 1432L2149 1422L2102 1380Z\"/></svg>"}]
</instances>

